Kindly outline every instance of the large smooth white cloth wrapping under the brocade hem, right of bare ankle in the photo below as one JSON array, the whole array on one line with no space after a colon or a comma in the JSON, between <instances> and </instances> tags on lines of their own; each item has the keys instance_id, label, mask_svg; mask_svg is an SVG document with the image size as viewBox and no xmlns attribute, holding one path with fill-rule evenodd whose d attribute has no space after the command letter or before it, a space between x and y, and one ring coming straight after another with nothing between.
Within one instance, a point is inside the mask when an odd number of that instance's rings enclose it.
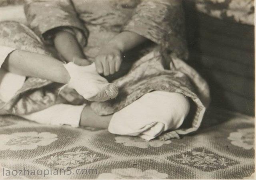
<instances>
[{"instance_id":1,"label":"large smooth white cloth wrapping under the brocade hem, right of bare ankle","mask_svg":"<svg viewBox=\"0 0 256 180\"><path fill-rule=\"evenodd\" d=\"M180 93L152 91L114 113L108 131L151 140L162 132L178 129L190 110Z\"/></svg>"}]
</instances>

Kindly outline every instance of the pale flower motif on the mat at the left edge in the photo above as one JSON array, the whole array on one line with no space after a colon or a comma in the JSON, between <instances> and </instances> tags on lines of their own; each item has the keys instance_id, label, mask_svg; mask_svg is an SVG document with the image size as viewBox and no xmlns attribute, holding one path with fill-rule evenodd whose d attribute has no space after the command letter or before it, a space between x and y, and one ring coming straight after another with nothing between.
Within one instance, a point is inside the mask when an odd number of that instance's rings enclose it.
<instances>
[{"instance_id":1,"label":"pale flower motif on the mat at the left edge","mask_svg":"<svg viewBox=\"0 0 256 180\"><path fill-rule=\"evenodd\" d=\"M0 135L0 150L28 150L47 146L57 140L57 135L49 132L20 132Z\"/></svg>"}]
</instances>

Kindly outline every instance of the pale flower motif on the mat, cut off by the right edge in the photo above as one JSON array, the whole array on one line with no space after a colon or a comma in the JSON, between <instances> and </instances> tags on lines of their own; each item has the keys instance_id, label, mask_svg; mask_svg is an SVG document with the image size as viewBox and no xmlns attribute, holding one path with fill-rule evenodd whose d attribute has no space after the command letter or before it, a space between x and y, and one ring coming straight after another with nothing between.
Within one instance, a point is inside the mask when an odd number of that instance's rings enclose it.
<instances>
[{"instance_id":1,"label":"pale flower motif on the mat, cut off by the right edge","mask_svg":"<svg viewBox=\"0 0 256 180\"><path fill-rule=\"evenodd\" d=\"M237 132L230 133L229 140L234 146L244 149L254 148L254 128L238 129Z\"/></svg>"}]
</instances>

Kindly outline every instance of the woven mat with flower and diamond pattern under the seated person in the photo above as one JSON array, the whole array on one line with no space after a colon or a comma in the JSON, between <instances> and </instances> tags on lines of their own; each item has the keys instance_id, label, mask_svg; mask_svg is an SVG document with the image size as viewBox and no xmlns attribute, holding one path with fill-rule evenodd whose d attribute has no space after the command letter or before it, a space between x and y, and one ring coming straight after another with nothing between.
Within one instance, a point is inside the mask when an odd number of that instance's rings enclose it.
<instances>
[{"instance_id":1,"label":"woven mat with flower and diamond pattern under the seated person","mask_svg":"<svg viewBox=\"0 0 256 180\"><path fill-rule=\"evenodd\" d=\"M254 172L252 145L243 145L250 147L245 149L232 144L252 142L254 118L224 110L210 109L204 118L207 127L172 141L145 141L106 129L34 126L14 116L2 119L15 123L0 128L0 164L6 170L97 169L94 174L66 171L65 176L5 176L8 179L243 179Z\"/></svg>"}]
</instances>

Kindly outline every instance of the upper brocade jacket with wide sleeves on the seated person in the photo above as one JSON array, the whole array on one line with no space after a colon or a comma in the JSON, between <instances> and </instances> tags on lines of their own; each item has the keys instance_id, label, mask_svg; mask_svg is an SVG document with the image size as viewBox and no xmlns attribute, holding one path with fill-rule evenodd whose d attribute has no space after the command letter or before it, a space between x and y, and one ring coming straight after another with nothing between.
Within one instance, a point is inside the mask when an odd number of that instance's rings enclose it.
<instances>
[{"instance_id":1,"label":"upper brocade jacket with wide sleeves on the seated person","mask_svg":"<svg viewBox=\"0 0 256 180\"><path fill-rule=\"evenodd\" d=\"M82 32L88 57L121 31L140 34L178 57L188 55L180 0L28 0L24 9L30 27L44 40L58 27Z\"/></svg>"}]
</instances>

